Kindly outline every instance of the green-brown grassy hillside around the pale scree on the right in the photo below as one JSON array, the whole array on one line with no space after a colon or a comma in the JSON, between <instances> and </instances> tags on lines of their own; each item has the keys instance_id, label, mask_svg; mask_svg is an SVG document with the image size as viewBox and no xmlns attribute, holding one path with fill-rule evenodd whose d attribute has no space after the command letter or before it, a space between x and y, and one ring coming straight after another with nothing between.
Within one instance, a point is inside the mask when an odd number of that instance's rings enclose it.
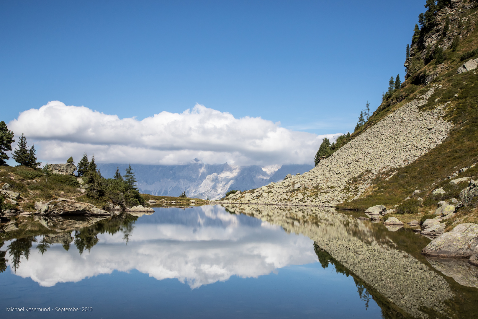
<instances>
[{"instance_id":1,"label":"green-brown grassy hillside around the pale scree on the right","mask_svg":"<svg viewBox=\"0 0 478 319\"><path fill-rule=\"evenodd\" d=\"M472 14L476 11L477 9L471 9L468 12L469 16L474 17ZM475 21L473 23L476 24ZM469 25L472 24L468 23L468 27ZM352 134L352 137L358 136L371 125L423 94L435 84L443 87L436 89L428 104L420 109L431 110L440 104L451 102L447 105L445 119L451 121L455 126L442 144L424 154L412 164L398 169L397 174L388 181L385 180L387 176L377 176L374 180L374 187L369 189L369 192L363 198L340 204L339 208L366 209L378 204L391 207L402 203L405 198L411 197L415 189L423 191L419 195L424 198L424 204L419 208L422 213L428 213L430 210L436 209L436 203L440 200L459 198L459 191L467 187L467 183L452 186L449 184L449 180L445 180L445 178L451 176L458 169L470 166L478 161L478 74L475 73L478 69L463 74L456 74L456 69L468 60L460 61L459 55L477 47L478 28L470 31L461 40L456 52L452 52L450 49L445 51L447 60L442 65L445 68L431 84L422 88L413 85L411 78L407 79L405 86L396 91L391 99L384 101L359 132ZM431 74L433 69L437 68L437 65L432 60L417 72L423 72L425 68L427 73ZM456 97L455 94L457 94ZM435 99L439 100L435 102ZM464 176L477 179L478 165L459 174L456 178ZM431 191L439 187L445 189L446 194L433 197ZM470 215L462 221L478 222L476 206L461 209L459 215L461 217Z\"/></svg>"}]
</instances>

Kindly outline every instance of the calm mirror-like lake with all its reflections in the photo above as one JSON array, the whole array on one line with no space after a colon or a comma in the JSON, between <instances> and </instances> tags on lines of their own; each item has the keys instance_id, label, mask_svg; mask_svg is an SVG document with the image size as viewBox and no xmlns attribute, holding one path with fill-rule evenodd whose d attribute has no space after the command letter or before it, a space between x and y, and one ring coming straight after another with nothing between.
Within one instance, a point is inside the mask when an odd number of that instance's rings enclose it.
<instances>
[{"instance_id":1,"label":"calm mirror-like lake with all its reflections","mask_svg":"<svg viewBox=\"0 0 478 319\"><path fill-rule=\"evenodd\" d=\"M349 214L20 216L0 224L0 318L478 318L477 267Z\"/></svg>"}]
</instances>

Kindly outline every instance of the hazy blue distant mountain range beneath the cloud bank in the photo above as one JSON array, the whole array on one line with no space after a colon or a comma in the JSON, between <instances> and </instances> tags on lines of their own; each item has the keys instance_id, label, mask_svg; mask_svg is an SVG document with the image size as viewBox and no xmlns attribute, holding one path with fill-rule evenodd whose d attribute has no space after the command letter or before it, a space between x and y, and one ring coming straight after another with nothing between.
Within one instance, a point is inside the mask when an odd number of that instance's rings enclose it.
<instances>
[{"instance_id":1,"label":"hazy blue distant mountain range beneath the cloud bank","mask_svg":"<svg viewBox=\"0 0 478 319\"><path fill-rule=\"evenodd\" d=\"M98 164L101 175L113 177L116 168L124 173L127 164ZM282 165L279 169L261 166L204 164L195 160L186 165L131 165L141 193L157 196L179 196L185 190L191 198L217 199L229 189L246 190L282 180L287 174L302 174L313 165Z\"/></svg>"}]
</instances>

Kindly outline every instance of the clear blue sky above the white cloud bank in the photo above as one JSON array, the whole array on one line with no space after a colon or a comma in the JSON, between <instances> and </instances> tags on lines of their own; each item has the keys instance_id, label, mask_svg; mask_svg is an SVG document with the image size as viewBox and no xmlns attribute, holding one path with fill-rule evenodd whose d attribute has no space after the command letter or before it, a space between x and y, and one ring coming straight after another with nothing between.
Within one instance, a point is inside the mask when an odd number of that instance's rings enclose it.
<instances>
[{"instance_id":1,"label":"clear blue sky above the white cloud bank","mask_svg":"<svg viewBox=\"0 0 478 319\"><path fill-rule=\"evenodd\" d=\"M404 75L424 1L2 1L1 120L48 101L120 119L196 103L353 131ZM16 133L17 134L17 133Z\"/></svg>"}]
</instances>

